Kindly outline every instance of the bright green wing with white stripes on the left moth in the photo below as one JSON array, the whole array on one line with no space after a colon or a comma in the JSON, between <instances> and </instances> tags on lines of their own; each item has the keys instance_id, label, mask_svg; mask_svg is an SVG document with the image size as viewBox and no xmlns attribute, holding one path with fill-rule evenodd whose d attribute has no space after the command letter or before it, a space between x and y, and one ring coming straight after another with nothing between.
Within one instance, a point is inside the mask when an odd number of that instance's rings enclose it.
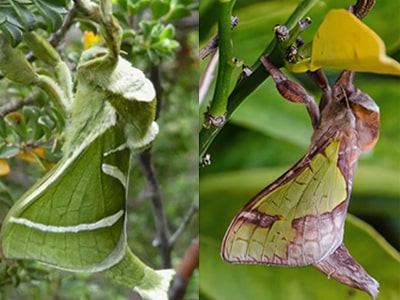
<instances>
[{"instance_id":1,"label":"bright green wing with white stripes on the left moth","mask_svg":"<svg viewBox=\"0 0 400 300\"><path fill-rule=\"evenodd\" d=\"M107 129L72 152L8 213L2 228L6 257L59 269L102 271L125 255L125 186L129 150L123 132Z\"/></svg>"}]
</instances>

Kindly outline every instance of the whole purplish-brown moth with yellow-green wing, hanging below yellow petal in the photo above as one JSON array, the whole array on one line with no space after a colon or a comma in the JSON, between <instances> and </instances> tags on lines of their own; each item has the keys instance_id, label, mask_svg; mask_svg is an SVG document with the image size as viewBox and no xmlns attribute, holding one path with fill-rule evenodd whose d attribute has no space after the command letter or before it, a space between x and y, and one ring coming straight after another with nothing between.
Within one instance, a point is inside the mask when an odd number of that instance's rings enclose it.
<instances>
[{"instance_id":1,"label":"whole purplish-brown moth with yellow-green wing, hanging below yellow petal","mask_svg":"<svg viewBox=\"0 0 400 300\"><path fill-rule=\"evenodd\" d=\"M300 85L262 58L281 95L304 103L314 128L307 154L237 214L222 243L230 263L313 265L336 280L378 295L378 282L343 244L344 221L359 155L379 136L379 108L344 71L331 88L321 70L319 106Z\"/></svg>"}]
</instances>

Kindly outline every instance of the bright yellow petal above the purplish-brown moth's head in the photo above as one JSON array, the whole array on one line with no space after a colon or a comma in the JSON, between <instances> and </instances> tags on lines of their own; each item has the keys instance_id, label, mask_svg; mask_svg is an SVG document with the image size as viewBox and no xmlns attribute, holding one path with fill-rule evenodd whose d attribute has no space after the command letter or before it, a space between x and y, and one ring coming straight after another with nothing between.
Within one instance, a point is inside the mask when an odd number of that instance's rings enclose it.
<instances>
[{"instance_id":1,"label":"bright yellow petal above the purplish-brown moth's head","mask_svg":"<svg viewBox=\"0 0 400 300\"><path fill-rule=\"evenodd\" d=\"M314 36L310 70L322 67L400 75L381 38L344 9L331 10Z\"/></svg>"}]
</instances>

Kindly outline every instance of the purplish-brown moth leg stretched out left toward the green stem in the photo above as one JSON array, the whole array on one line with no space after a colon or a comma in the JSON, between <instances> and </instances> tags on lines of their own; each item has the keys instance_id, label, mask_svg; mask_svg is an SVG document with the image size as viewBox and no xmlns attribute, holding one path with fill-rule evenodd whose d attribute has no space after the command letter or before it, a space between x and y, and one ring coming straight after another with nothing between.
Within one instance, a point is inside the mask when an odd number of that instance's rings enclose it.
<instances>
[{"instance_id":1,"label":"purplish-brown moth leg stretched out left toward the green stem","mask_svg":"<svg viewBox=\"0 0 400 300\"><path fill-rule=\"evenodd\" d=\"M279 93L287 100L294 103L304 103L307 106L313 128L319 125L319 108L314 98L307 94L307 91L299 84L290 81L277 67L271 64L266 56L261 57L265 69L275 81Z\"/></svg>"}]
</instances>

